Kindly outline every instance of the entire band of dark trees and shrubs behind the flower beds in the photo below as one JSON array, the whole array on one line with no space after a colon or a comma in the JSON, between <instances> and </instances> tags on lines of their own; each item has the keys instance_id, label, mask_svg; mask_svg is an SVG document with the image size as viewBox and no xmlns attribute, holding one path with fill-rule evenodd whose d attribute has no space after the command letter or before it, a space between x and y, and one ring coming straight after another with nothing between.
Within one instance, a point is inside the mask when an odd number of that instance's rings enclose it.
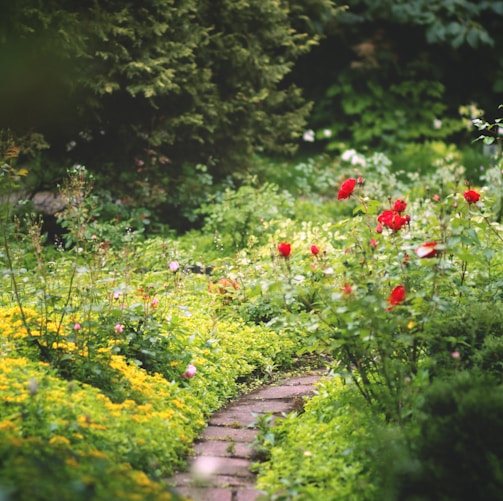
<instances>
[{"instance_id":1,"label":"entire band of dark trees and shrubs behind the flower beds","mask_svg":"<svg viewBox=\"0 0 503 501\"><path fill-rule=\"evenodd\" d=\"M502 24L496 0L9 2L3 149L29 196L83 164L117 213L186 230L264 158L354 147L407 169L469 144L501 102Z\"/></svg>"}]
</instances>

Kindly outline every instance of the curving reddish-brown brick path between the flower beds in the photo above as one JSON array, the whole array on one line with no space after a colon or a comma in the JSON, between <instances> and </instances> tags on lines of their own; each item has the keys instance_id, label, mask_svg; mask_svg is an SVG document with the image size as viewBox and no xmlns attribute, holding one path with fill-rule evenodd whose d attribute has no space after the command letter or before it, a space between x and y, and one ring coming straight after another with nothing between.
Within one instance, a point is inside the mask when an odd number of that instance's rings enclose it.
<instances>
[{"instance_id":1,"label":"curving reddish-brown brick path between the flower beds","mask_svg":"<svg viewBox=\"0 0 503 501\"><path fill-rule=\"evenodd\" d=\"M252 443L258 434L257 417L272 413L273 419L302 406L314 391L321 371L277 381L259 388L213 414L208 427L194 446L186 472L168 483L194 501L255 501L255 461Z\"/></svg>"}]
</instances>

